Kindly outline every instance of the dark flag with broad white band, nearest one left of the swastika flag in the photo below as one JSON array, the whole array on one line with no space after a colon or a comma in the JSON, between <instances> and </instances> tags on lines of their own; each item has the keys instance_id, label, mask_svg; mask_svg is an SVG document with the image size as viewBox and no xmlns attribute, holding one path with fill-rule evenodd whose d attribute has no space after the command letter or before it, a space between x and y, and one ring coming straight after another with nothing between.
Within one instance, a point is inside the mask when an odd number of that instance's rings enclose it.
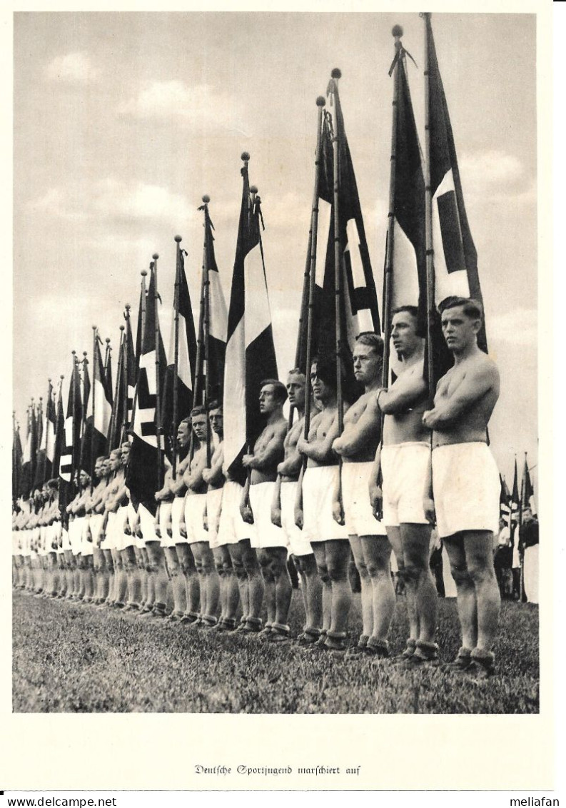
<instances>
[{"instance_id":1,"label":"dark flag with broad white band, nearest one left of the swastika flag","mask_svg":"<svg viewBox=\"0 0 566 808\"><path fill-rule=\"evenodd\" d=\"M85 431L82 439L82 468L92 478L96 458L105 453L112 415L111 390L100 353L100 338L94 340L92 391L86 405ZM86 370L86 368L85 368Z\"/></svg>"}]
</instances>

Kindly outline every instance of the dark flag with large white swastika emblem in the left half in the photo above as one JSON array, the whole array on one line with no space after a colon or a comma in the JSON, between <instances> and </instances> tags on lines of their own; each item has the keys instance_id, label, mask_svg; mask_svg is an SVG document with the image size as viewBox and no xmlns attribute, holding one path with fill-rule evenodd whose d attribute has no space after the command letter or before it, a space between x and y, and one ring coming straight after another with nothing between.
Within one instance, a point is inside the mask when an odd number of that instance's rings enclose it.
<instances>
[{"instance_id":1,"label":"dark flag with large white swastika emblem in the left half","mask_svg":"<svg viewBox=\"0 0 566 808\"><path fill-rule=\"evenodd\" d=\"M140 370L136 385L136 405L132 424L132 444L126 484L136 503L143 503L156 512L155 492L159 483L157 455L157 392L161 390L166 357L158 335L156 345L157 300L155 272L150 270L149 290L145 309L145 328L140 355ZM157 378L156 350L159 351L161 378Z\"/></svg>"}]
</instances>

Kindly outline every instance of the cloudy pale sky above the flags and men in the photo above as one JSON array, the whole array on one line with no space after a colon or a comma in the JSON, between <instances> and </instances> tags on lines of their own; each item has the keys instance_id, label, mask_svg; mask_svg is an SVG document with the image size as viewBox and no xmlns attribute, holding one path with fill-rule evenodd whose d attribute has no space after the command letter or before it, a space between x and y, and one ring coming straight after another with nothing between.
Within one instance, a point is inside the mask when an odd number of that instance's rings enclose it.
<instances>
[{"instance_id":1,"label":"cloudy pale sky above the flags and men","mask_svg":"<svg viewBox=\"0 0 566 808\"><path fill-rule=\"evenodd\" d=\"M124 304L158 261L169 343L174 235L195 315L203 194L225 297L236 248L240 154L258 186L279 374L294 364L308 240L317 95L334 67L381 299L394 48L404 27L424 145L424 23L417 14L17 13L14 23L13 404L92 350L117 348ZM537 482L535 16L434 14L488 347L501 371L490 437L512 481ZM117 351L115 351L117 354Z\"/></svg>"}]
</instances>

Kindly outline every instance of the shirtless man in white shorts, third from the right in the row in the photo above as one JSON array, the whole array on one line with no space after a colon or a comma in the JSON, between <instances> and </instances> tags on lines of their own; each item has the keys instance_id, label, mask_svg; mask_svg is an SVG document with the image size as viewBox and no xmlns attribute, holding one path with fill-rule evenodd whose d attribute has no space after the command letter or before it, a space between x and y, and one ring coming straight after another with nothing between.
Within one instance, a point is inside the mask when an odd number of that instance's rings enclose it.
<instances>
[{"instance_id":1,"label":"shirtless man in white shorts, third from the right in the row","mask_svg":"<svg viewBox=\"0 0 566 808\"><path fill-rule=\"evenodd\" d=\"M384 343L376 334L358 336L354 346L354 376L364 393L344 416L342 435L333 450L342 457L342 504L354 561L362 584L362 635L348 655L389 655L388 633L395 610L391 578L391 545L385 525L375 519L368 486L379 445L381 417L375 402L383 363ZM334 498L334 509L340 507Z\"/></svg>"}]
</instances>

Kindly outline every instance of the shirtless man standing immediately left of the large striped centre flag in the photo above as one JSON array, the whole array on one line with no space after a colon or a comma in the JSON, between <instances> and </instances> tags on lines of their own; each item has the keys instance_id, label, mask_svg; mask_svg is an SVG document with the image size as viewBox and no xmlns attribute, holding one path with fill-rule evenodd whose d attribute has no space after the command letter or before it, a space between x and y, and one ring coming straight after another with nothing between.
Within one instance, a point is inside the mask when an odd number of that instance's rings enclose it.
<instances>
[{"instance_id":1,"label":"shirtless man standing immediately left of the large striped centre flag","mask_svg":"<svg viewBox=\"0 0 566 808\"><path fill-rule=\"evenodd\" d=\"M216 445L210 461L210 467L203 469L203 480L208 484L207 490L207 527L208 544L212 549L216 572L220 576L220 618L213 629L233 631L236 628L236 612L240 603L237 579L234 574L232 560L225 535L220 534L220 511L224 490L224 415L218 402L212 402L208 408L208 420L219 443Z\"/></svg>"}]
</instances>

